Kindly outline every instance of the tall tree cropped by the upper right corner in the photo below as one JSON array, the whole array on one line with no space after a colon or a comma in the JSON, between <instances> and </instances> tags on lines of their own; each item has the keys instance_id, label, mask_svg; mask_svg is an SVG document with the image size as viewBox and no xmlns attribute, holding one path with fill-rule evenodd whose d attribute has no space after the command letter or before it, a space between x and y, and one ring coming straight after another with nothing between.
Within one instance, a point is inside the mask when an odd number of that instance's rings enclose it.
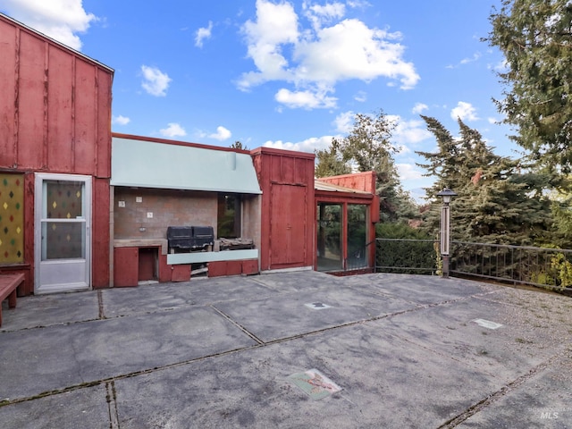
<instances>
[{"instance_id":1,"label":"tall tree cropped by the upper right corner","mask_svg":"<svg viewBox=\"0 0 572 429\"><path fill-rule=\"evenodd\" d=\"M550 171L572 171L572 3L503 0L486 40L501 49L506 85L497 101L512 136Z\"/></svg>"}]
</instances>

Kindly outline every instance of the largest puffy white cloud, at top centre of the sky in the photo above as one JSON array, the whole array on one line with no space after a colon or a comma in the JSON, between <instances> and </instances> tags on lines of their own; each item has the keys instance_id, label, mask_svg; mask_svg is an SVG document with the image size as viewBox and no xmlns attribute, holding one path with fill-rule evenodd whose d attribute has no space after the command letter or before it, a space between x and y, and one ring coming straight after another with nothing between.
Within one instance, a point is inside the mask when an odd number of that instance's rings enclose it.
<instances>
[{"instance_id":1,"label":"largest puffy white cloud, at top centre of the sky","mask_svg":"<svg viewBox=\"0 0 572 429\"><path fill-rule=\"evenodd\" d=\"M405 47L399 43L399 32L370 29L356 19L339 21L345 13L339 2L324 6L305 2L303 8L312 21L311 29L299 25L292 4L257 0L257 20L242 27L256 71L241 75L240 89L280 80L296 87L290 94L314 93L324 100L343 80L384 77L399 81L402 89L415 87L419 75L413 63L403 60ZM284 97L285 101L290 98ZM313 108L311 103L297 106Z\"/></svg>"}]
</instances>

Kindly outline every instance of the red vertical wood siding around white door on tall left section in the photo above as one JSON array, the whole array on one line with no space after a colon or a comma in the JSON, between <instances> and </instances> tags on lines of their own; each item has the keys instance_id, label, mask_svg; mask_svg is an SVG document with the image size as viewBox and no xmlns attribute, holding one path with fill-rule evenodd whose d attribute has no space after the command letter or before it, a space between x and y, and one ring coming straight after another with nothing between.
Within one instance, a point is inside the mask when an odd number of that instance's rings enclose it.
<instances>
[{"instance_id":1,"label":"red vertical wood siding around white door on tall left section","mask_svg":"<svg viewBox=\"0 0 572 429\"><path fill-rule=\"evenodd\" d=\"M34 172L94 177L92 286L109 285L114 71L0 16L0 169L26 173L24 264L34 285Z\"/></svg>"}]
</instances>

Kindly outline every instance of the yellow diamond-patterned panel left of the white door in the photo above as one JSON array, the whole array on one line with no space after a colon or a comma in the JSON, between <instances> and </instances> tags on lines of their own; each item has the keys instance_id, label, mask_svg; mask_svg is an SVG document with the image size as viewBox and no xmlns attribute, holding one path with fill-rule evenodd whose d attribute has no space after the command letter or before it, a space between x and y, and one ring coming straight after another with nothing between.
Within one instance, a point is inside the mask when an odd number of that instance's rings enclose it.
<instances>
[{"instance_id":1,"label":"yellow diamond-patterned panel left of the white door","mask_svg":"<svg viewBox=\"0 0 572 429\"><path fill-rule=\"evenodd\" d=\"M0 264L24 262L24 175L0 172Z\"/></svg>"}]
</instances>

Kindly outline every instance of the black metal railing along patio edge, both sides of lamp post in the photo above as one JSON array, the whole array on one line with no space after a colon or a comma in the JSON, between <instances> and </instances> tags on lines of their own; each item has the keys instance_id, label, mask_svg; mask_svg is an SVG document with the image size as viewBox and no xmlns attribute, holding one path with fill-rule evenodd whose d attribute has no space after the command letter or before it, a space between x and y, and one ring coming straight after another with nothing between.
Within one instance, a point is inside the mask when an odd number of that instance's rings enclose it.
<instances>
[{"instance_id":1,"label":"black metal railing along patio edge, both sides of lamp post","mask_svg":"<svg viewBox=\"0 0 572 429\"><path fill-rule=\"evenodd\" d=\"M377 239L375 272L441 274L439 241ZM450 275L572 290L572 250L452 241Z\"/></svg>"}]
</instances>

